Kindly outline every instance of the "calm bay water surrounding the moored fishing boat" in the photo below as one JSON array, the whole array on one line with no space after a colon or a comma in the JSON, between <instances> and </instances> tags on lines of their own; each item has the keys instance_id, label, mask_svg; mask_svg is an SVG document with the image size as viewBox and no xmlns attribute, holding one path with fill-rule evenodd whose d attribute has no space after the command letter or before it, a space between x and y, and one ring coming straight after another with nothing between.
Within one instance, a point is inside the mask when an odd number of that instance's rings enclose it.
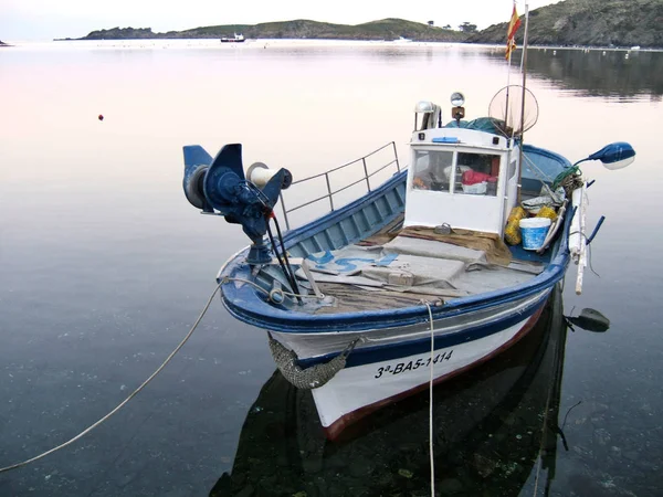
<instances>
[{"instance_id":1,"label":"calm bay water surrounding the moored fishing boat","mask_svg":"<svg viewBox=\"0 0 663 497\"><path fill-rule=\"evenodd\" d=\"M562 366L540 351L550 350L545 337L561 340L559 326L557 335L543 329L527 355L436 390L438 488L660 495L663 53L533 50L529 64L540 107L529 142L571 160L618 140L638 151L627 170L583 168L597 179L589 223L607 216L592 244L600 277L588 273L578 297L571 267L564 293L566 314L594 307L611 328L569 332ZM406 162L417 101L445 109L462 91L467 116L480 117L505 83L502 51L490 47L1 50L0 466L69 440L140 384L188 331L221 263L246 244L185 200L182 145L214 154L240 141L246 165L299 178L391 140ZM0 495L430 495L425 399L332 446L311 399L273 372L264 334L215 302L139 396L75 445L0 475ZM545 391L555 395L532 393ZM547 437L537 482L546 402L558 409L568 450Z\"/></svg>"}]
</instances>

